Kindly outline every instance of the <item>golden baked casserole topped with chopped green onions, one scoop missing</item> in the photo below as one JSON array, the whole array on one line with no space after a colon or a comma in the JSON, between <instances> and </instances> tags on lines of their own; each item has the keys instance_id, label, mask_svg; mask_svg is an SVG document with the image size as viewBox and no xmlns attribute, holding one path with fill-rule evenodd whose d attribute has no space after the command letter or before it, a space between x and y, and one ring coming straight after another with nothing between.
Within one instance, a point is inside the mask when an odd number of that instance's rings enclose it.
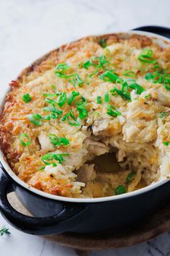
<instances>
[{"instance_id":1,"label":"golden baked casserole topped with chopped green onions, one scoop missing","mask_svg":"<svg viewBox=\"0 0 170 256\"><path fill-rule=\"evenodd\" d=\"M143 35L90 36L51 51L10 86L1 150L30 186L105 197L169 178L169 47Z\"/></svg>"}]
</instances>

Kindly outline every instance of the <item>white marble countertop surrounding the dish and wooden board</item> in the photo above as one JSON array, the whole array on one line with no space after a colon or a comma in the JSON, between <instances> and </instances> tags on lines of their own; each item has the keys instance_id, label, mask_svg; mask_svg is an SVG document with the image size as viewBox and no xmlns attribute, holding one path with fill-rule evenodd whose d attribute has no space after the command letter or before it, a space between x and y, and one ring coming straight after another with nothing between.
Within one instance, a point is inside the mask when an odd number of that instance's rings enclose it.
<instances>
[{"instance_id":1,"label":"white marble countertop surrounding the dish and wooden board","mask_svg":"<svg viewBox=\"0 0 170 256\"><path fill-rule=\"evenodd\" d=\"M170 26L169 9L169 0L0 0L0 97L24 67L62 43L141 25ZM2 225L12 234L0 236L1 255L76 255L73 249L13 229L0 216ZM166 233L133 247L94 251L89 256L168 256L169 240Z\"/></svg>"}]
</instances>

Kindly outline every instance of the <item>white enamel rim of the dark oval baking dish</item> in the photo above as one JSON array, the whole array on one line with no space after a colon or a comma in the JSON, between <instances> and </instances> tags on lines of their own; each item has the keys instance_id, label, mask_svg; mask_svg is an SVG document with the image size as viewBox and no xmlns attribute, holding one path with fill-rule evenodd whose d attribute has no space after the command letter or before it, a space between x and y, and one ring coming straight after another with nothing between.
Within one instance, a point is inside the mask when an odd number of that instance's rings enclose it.
<instances>
[{"instance_id":1,"label":"white enamel rim of the dark oval baking dish","mask_svg":"<svg viewBox=\"0 0 170 256\"><path fill-rule=\"evenodd\" d=\"M112 33L113 34L113 33ZM120 34L120 35L146 35L148 36L148 38L152 38L153 40L160 40L159 42L157 42L158 44L162 44L163 47L166 47L167 45L170 44L170 39L166 38L162 35L156 35L155 33L149 33L149 32L143 32L143 31L139 31L139 30L132 30L132 31L124 31L124 32L116 32L115 34ZM103 34L101 34L103 35ZM4 101L6 98L6 93L8 93L9 90L6 90L4 97L2 98L1 102L0 102L0 106L1 108L3 108L4 106ZM6 170L6 172L9 174L9 176L11 176L11 178L14 180L14 182L17 182L17 184L19 184L20 186L24 187L24 189L29 190L30 192L35 193L36 195L40 195L42 197L46 197L52 200L58 200L58 201L63 201L63 202L107 202L107 201L111 201L111 200L121 200L124 198L128 198L128 197L133 197L136 195L140 195L143 193L146 193L148 191L151 191L152 189L155 189L156 187L161 186L162 184L165 184L166 182L169 182L169 179L163 179L161 181L155 182L153 184L148 185L147 187L143 187L141 189L135 190L133 192L128 192L122 195L113 195L113 196L109 196L109 197L98 197L98 198L72 198L72 197L61 197L58 195L51 195L47 192L42 192L39 189L35 189L33 187L30 187L30 185L28 185L27 183L23 182L21 179L18 178L18 176L16 174L14 174L14 172L12 171L12 168L9 166L9 164L6 162L4 155L2 153L2 151L0 150L0 161L2 166L4 167L4 169Z\"/></svg>"}]
</instances>

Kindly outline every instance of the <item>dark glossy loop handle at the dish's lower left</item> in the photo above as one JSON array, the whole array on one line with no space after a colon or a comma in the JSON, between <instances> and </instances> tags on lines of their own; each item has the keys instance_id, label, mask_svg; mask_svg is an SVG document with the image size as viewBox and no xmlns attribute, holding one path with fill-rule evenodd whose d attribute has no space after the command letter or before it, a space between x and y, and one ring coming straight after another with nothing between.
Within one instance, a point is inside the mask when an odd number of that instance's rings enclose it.
<instances>
[{"instance_id":1,"label":"dark glossy loop handle at the dish's lower left","mask_svg":"<svg viewBox=\"0 0 170 256\"><path fill-rule=\"evenodd\" d=\"M76 203L61 202L63 209L54 216L35 218L25 216L10 205L7 195L12 192L12 181L1 171L0 175L0 211L12 226L27 234L51 235L60 234L77 226L88 218L89 208Z\"/></svg>"}]
</instances>

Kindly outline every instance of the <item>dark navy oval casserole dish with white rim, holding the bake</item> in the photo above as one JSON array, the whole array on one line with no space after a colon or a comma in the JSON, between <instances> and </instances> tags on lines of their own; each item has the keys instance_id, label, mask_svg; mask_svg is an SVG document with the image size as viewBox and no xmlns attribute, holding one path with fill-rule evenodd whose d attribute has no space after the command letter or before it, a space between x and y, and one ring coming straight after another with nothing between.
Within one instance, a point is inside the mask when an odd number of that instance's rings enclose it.
<instances>
[{"instance_id":1,"label":"dark navy oval casserole dish with white rim, holding the bake","mask_svg":"<svg viewBox=\"0 0 170 256\"><path fill-rule=\"evenodd\" d=\"M122 38L133 34L146 35L161 47L169 40L151 33L118 33ZM48 55L47 55L48 56ZM34 65L40 64L42 57ZM33 65L33 66L34 66ZM25 74L30 68L24 69ZM109 231L136 223L158 208L169 197L169 180L163 180L128 194L101 198L70 198L50 195L22 182L9 167L1 152L0 209L3 216L17 229L30 234L58 234L63 231L89 233ZM19 200L35 218L14 210L7 200L7 193L15 191Z\"/></svg>"}]
</instances>

